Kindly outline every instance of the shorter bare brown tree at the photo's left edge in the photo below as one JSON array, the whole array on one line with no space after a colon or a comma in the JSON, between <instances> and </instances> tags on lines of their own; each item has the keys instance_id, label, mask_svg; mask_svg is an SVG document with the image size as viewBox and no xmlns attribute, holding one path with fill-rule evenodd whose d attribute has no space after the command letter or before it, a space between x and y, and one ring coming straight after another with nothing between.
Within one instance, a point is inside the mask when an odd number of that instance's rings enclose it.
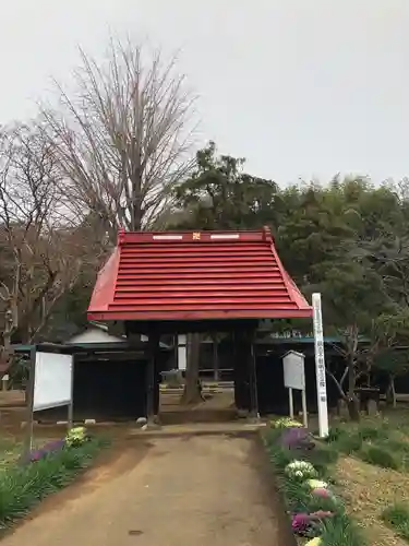
<instances>
[{"instance_id":1,"label":"shorter bare brown tree at the photo's left edge","mask_svg":"<svg viewBox=\"0 0 409 546\"><path fill-rule=\"evenodd\" d=\"M0 372L10 364L13 336L29 343L62 294L75 282L83 244L61 222L52 149L28 126L0 140Z\"/></svg>"}]
</instances>

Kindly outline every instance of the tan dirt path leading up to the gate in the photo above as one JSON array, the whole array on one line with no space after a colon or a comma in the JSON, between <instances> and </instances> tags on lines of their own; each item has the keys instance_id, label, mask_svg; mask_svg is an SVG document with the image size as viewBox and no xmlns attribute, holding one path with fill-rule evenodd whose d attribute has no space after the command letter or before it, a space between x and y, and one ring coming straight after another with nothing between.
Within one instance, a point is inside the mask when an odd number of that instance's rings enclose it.
<instances>
[{"instance_id":1,"label":"tan dirt path leading up to the gate","mask_svg":"<svg viewBox=\"0 0 409 546\"><path fill-rule=\"evenodd\" d=\"M260 465L252 438L130 441L1 546L287 546Z\"/></svg>"}]
</instances>

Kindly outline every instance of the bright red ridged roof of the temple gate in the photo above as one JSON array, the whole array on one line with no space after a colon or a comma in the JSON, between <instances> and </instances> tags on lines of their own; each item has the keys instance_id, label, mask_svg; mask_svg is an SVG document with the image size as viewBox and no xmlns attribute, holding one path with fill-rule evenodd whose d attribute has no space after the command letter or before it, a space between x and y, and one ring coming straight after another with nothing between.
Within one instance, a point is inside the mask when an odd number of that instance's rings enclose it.
<instances>
[{"instance_id":1,"label":"bright red ridged roof of the temple gate","mask_svg":"<svg viewBox=\"0 0 409 546\"><path fill-rule=\"evenodd\" d=\"M88 320L311 317L267 228L124 233L99 272Z\"/></svg>"}]
</instances>

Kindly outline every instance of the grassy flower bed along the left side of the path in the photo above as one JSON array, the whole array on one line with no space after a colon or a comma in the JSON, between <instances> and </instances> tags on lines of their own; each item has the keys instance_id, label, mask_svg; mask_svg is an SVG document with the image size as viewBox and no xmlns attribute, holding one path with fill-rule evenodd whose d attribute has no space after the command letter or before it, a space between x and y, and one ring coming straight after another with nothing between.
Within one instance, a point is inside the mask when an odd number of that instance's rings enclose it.
<instances>
[{"instance_id":1,"label":"grassy flower bed along the left side of the path","mask_svg":"<svg viewBox=\"0 0 409 546\"><path fill-rule=\"evenodd\" d=\"M14 463L0 474L0 529L25 515L47 495L67 486L89 466L106 442L80 428L81 432L71 430L63 440L32 451L26 461Z\"/></svg>"}]
</instances>

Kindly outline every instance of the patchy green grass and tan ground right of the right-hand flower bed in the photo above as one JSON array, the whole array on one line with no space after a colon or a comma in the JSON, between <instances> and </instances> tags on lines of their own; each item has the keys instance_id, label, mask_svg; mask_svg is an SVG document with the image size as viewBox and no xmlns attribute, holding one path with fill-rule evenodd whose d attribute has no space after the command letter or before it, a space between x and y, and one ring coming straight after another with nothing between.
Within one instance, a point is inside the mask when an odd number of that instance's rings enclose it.
<instances>
[{"instance_id":1,"label":"patchy green grass and tan ground right of the right-hand flower bed","mask_svg":"<svg viewBox=\"0 0 409 546\"><path fill-rule=\"evenodd\" d=\"M370 544L409 542L408 411L390 412L387 418L363 417L360 424L338 423L327 442L341 453L338 479Z\"/></svg>"}]
</instances>

